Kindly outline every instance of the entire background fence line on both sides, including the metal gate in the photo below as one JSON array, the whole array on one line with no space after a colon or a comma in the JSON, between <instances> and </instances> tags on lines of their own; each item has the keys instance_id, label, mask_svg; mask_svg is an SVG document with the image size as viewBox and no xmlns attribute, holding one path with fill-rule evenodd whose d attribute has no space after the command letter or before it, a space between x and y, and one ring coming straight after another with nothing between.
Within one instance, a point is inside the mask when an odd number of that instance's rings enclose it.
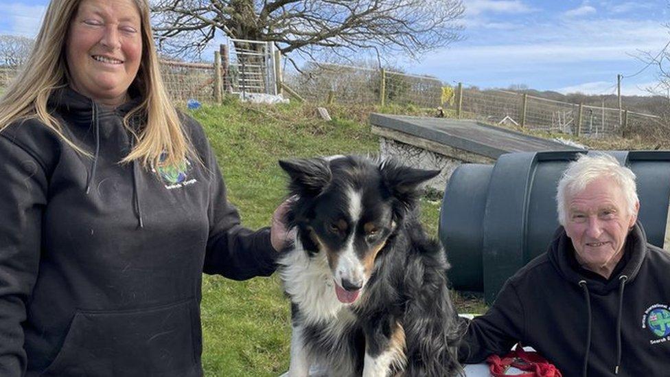
<instances>
[{"instance_id":1,"label":"entire background fence line on both sides, including the metal gate","mask_svg":"<svg viewBox=\"0 0 670 377\"><path fill-rule=\"evenodd\" d=\"M386 69L308 62L300 71L282 74L280 61L272 43L231 39L214 54L213 63L162 61L161 75L171 98L182 103L191 98L220 102L222 93L246 96L286 89L315 103L443 106L457 117L592 137L660 123L654 115L509 91L465 89L462 84L453 88L437 78ZM0 93L16 71L0 67Z\"/></svg>"}]
</instances>

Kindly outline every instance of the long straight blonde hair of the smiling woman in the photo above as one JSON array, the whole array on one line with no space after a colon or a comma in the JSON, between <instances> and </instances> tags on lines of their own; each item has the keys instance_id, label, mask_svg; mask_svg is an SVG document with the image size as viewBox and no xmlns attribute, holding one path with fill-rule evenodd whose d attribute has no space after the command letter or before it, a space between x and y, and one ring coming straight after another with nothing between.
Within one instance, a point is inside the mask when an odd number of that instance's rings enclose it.
<instances>
[{"instance_id":1,"label":"long straight blonde hair of the smiling woman","mask_svg":"<svg viewBox=\"0 0 670 377\"><path fill-rule=\"evenodd\" d=\"M0 99L0 132L12 122L36 118L54 130L78 152L89 155L73 144L62 132L62 125L49 114L47 100L54 90L65 87L69 80L65 58L65 41L71 19L82 0L51 0L42 27L23 69L12 81ZM151 31L148 0L133 0L141 19L142 57L137 76L131 85L139 91L143 101L124 117L146 115L146 125L137 143L122 163L140 161L150 164L179 165L187 156L194 156L188 136L184 132L176 108L167 96ZM161 155L164 161L161 161Z\"/></svg>"}]
</instances>

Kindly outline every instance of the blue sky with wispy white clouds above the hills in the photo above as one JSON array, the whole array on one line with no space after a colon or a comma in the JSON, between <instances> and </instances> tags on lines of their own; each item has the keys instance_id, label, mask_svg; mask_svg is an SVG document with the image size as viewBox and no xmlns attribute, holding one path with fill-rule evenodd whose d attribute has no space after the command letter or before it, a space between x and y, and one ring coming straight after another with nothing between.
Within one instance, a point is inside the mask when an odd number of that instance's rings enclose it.
<instances>
[{"instance_id":1,"label":"blue sky with wispy white clouds above the hills","mask_svg":"<svg viewBox=\"0 0 670 377\"><path fill-rule=\"evenodd\" d=\"M0 0L0 34L34 36L47 0ZM616 74L645 64L640 51L670 41L669 0L464 0L463 41L400 62L406 71L478 87L526 84L564 93L614 93ZM623 94L644 94L649 67L624 78Z\"/></svg>"}]
</instances>

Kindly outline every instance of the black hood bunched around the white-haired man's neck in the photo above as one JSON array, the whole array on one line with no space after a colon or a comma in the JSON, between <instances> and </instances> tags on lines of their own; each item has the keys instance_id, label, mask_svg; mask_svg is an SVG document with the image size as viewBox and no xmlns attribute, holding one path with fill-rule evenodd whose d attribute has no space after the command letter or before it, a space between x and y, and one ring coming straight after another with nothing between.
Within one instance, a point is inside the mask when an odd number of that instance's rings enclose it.
<instances>
[{"instance_id":1,"label":"black hood bunched around the white-haired man's neck","mask_svg":"<svg viewBox=\"0 0 670 377\"><path fill-rule=\"evenodd\" d=\"M570 263L570 258L573 258L575 249L573 242L568 238L563 227L559 227L554 233L553 241L547 251L549 260L557 269L558 273L564 277L568 282L579 286L579 282L586 282L591 293L597 295L605 295L612 290L619 289L619 277L627 276L628 283L632 283L640 271L640 266L645 260L647 249L647 235L640 222L636 222L633 229L628 233L626 242L623 245L624 253L627 253L622 261L625 262L623 269L616 269L615 273L610 276L606 282L597 279L590 279L575 270ZM621 263L621 262L620 262ZM580 288L581 290L581 288Z\"/></svg>"}]
</instances>

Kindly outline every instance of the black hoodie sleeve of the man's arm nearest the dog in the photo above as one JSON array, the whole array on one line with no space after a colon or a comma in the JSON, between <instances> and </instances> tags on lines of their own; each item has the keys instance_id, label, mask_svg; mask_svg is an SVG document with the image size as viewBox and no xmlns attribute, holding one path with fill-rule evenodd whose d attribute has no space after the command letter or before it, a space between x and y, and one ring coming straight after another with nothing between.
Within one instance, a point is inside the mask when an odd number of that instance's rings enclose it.
<instances>
[{"instance_id":1,"label":"black hoodie sleeve of the man's arm nearest the dog","mask_svg":"<svg viewBox=\"0 0 670 377\"><path fill-rule=\"evenodd\" d=\"M505 355L524 336L524 309L516 288L508 280L492 308L475 317L459 347L461 363L481 363L489 355Z\"/></svg>"}]
</instances>

